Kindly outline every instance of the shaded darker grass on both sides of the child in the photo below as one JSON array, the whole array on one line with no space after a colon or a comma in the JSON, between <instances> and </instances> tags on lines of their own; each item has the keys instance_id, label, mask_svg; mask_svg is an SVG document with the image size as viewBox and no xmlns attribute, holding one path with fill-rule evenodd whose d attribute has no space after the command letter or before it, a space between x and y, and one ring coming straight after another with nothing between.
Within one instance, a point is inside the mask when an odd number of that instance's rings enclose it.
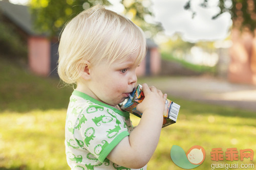
<instances>
[{"instance_id":1,"label":"shaded darker grass on both sides of the child","mask_svg":"<svg viewBox=\"0 0 256 170\"><path fill-rule=\"evenodd\" d=\"M0 112L7 110L26 113L34 109L66 109L73 88L61 86L58 78L35 76L21 65L0 57ZM181 106L180 115L189 110L197 115L256 118L254 112L241 109L176 98L172 100Z\"/></svg>"}]
</instances>

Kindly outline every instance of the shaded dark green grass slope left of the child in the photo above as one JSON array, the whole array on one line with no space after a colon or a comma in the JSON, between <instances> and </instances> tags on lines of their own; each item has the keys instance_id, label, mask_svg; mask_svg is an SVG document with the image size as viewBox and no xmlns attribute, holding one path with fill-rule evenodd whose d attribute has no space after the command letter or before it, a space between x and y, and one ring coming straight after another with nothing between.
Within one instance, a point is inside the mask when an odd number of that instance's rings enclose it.
<instances>
[{"instance_id":1,"label":"shaded dark green grass slope left of the child","mask_svg":"<svg viewBox=\"0 0 256 170\"><path fill-rule=\"evenodd\" d=\"M72 87L58 78L33 75L26 67L0 58L0 112L67 108Z\"/></svg>"}]
</instances>

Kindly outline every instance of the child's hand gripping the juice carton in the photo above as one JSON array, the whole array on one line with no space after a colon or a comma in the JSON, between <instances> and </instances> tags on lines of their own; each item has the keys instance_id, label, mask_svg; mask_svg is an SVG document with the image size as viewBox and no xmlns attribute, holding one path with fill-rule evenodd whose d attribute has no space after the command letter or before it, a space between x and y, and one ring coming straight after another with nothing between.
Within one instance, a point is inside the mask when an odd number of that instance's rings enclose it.
<instances>
[{"instance_id":1,"label":"child's hand gripping the juice carton","mask_svg":"<svg viewBox=\"0 0 256 170\"><path fill-rule=\"evenodd\" d=\"M145 98L137 105L137 110L142 113L148 110L162 115L167 94L163 94L161 90L156 89L154 86L148 87L145 83L142 85L142 90Z\"/></svg>"}]
</instances>

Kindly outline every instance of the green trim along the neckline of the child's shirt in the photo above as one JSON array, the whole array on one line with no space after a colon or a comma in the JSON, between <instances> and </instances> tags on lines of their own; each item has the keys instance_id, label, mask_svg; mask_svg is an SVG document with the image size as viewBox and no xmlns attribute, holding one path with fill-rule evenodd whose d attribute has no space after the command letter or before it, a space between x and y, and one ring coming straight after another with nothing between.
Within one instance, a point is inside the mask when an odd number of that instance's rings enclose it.
<instances>
[{"instance_id":1,"label":"green trim along the neckline of the child's shirt","mask_svg":"<svg viewBox=\"0 0 256 170\"><path fill-rule=\"evenodd\" d=\"M98 104L100 106L104 106L104 107L107 107L109 109L112 109L113 111L115 111L116 113L120 114L121 116L124 116L126 118L130 118L130 113L129 112L118 110L117 108L114 108L114 107L112 107L112 106L110 106L108 104L105 104L105 103L102 103L100 101L97 101L96 99L92 98L90 95L88 95L86 93L83 93L83 92L78 91L78 90L74 90L72 94L77 95L80 98L83 98L83 99L86 99L86 100L90 100L91 102L93 102L95 104Z\"/></svg>"}]
</instances>

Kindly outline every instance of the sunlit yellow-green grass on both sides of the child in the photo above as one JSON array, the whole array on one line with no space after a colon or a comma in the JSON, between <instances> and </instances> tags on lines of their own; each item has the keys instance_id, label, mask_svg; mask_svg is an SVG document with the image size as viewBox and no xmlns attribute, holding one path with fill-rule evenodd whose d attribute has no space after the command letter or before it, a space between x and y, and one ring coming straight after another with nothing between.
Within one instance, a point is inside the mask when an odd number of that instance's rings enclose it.
<instances>
[{"instance_id":1,"label":"sunlit yellow-green grass on both sides of the child","mask_svg":"<svg viewBox=\"0 0 256 170\"><path fill-rule=\"evenodd\" d=\"M160 141L148 169L181 169L170 159L172 145L179 145L185 152L194 145L201 145L206 159L200 169L209 169L211 163L241 163L211 161L212 148L256 150L256 116L240 111L237 116L225 116L223 107L193 103L203 112L187 107L191 102L177 100L182 107L176 124L162 129ZM219 112L218 112L219 110ZM227 109L226 113L234 112ZM220 114L223 112L223 114ZM218 114L219 113L219 114ZM254 115L251 116L250 115ZM65 155L65 109L31 110L28 113L4 111L0 114L0 169L69 169ZM139 118L131 115L133 124ZM150 129L149 129L150 130ZM254 163L245 160L242 163Z\"/></svg>"}]
</instances>

